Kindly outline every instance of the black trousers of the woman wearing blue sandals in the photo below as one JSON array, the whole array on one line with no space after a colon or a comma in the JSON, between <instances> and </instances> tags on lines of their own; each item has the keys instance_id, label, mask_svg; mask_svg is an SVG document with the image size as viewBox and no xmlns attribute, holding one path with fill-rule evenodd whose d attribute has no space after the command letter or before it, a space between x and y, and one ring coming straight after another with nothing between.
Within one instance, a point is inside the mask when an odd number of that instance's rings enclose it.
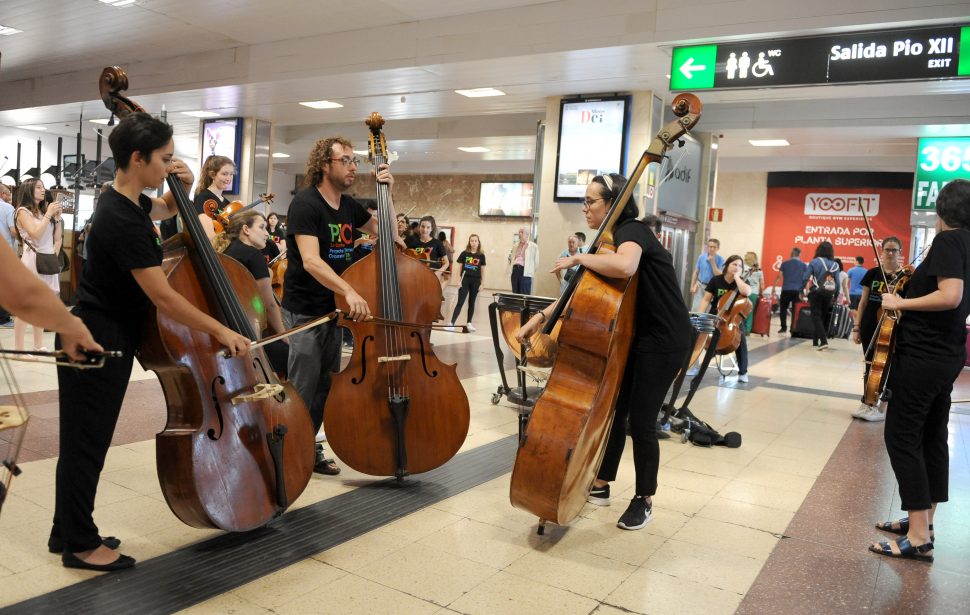
<instances>
[{"instance_id":1,"label":"black trousers of the woman wearing blue sandals","mask_svg":"<svg viewBox=\"0 0 970 615\"><path fill-rule=\"evenodd\" d=\"M903 510L949 499L950 392L962 369L962 358L893 357L883 437Z\"/></svg>"}]
</instances>

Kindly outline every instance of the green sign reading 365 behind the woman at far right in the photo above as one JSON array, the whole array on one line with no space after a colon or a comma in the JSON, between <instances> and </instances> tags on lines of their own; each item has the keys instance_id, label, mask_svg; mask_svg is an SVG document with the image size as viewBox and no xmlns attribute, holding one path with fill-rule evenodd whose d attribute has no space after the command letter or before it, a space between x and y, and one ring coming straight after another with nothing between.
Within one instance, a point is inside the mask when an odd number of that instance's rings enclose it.
<instances>
[{"instance_id":1,"label":"green sign reading 365 behind the woman at far right","mask_svg":"<svg viewBox=\"0 0 970 615\"><path fill-rule=\"evenodd\" d=\"M970 175L970 137L919 140L913 209L935 211L936 197L950 180Z\"/></svg>"}]
</instances>

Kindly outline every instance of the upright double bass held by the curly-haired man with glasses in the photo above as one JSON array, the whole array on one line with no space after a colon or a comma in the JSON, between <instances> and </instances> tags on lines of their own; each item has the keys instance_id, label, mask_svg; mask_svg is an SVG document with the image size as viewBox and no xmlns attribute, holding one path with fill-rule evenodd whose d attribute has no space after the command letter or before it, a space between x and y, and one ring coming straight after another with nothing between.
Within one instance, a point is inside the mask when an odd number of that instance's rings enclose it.
<instances>
[{"instance_id":1,"label":"upright double bass held by the curly-haired man with glasses","mask_svg":"<svg viewBox=\"0 0 970 615\"><path fill-rule=\"evenodd\" d=\"M384 119L372 113L370 159L387 162ZM451 459L468 434L469 408L454 365L435 357L431 323L441 309L441 285L425 265L398 250L390 191L377 183L379 237L373 252L341 277L377 318L347 322L354 336L350 363L333 375L323 414L327 441L341 461L375 476L427 472ZM337 308L347 311L342 295Z\"/></svg>"}]
</instances>

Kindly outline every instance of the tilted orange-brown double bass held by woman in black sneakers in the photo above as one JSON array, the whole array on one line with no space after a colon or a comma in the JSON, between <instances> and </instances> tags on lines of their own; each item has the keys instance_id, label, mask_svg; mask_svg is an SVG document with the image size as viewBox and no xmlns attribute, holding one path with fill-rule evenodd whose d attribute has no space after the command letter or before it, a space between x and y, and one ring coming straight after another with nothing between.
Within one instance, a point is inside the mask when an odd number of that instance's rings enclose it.
<instances>
[{"instance_id":1,"label":"tilted orange-brown double bass held by woman in black sneakers","mask_svg":"<svg viewBox=\"0 0 970 615\"><path fill-rule=\"evenodd\" d=\"M613 228L652 162L698 122L700 100L680 94L675 119L654 137L600 226L590 252L615 251ZM544 334L563 315L558 352L546 388L536 400L512 470L512 505L540 519L569 523L582 509L603 459L630 343L634 335L637 276L608 278L580 267L560 297Z\"/></svg>"}]
</instances>

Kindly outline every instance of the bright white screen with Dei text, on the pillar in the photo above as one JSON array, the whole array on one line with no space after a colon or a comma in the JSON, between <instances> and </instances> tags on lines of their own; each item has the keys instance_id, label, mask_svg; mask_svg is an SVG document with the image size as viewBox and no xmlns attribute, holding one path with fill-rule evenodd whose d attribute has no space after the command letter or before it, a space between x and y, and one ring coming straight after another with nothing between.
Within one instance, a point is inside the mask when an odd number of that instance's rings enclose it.
<instances>
[{"instance_id":1,"label":"bright white screen with Dei text, on the pillar","mask_svg":"<svg viewBox=\"0 0 970 615\"><path fill-rule=\"evenodd\" d=\"M582 200L597 175L625 172L629 107L628 96L561 102L555 200Z\"/></svg>"}]
</instances>

